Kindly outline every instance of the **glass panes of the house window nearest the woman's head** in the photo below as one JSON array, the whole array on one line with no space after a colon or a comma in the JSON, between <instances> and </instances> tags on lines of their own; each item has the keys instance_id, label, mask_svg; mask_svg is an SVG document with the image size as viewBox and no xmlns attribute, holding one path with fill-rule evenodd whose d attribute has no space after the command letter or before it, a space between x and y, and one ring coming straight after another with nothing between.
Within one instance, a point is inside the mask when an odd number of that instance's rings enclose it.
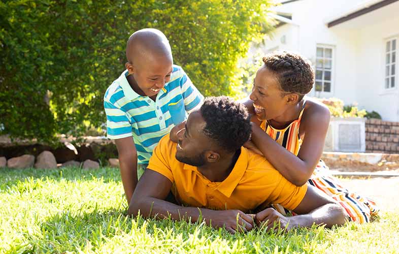
<instances>
[{"instance_id":1,"label":"glass panes of the house window nearest the woman's head","mask_svg":"<svg viewBox=\"0 0 399 254\"><path fill-rule=\"evenodd\" d=\"M333 48L317 46L315 90L331 92L333 78Z\"/></svg>"}]
</instances>

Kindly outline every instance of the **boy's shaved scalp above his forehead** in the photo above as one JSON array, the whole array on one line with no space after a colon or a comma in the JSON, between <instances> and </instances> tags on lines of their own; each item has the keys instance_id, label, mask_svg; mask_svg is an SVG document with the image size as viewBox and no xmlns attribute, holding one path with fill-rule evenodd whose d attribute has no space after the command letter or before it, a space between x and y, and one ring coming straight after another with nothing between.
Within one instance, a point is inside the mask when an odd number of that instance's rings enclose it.
<instances>
[{"instance_id":1,"label":"boy's shaved scalp above his forehead","mask_svg":"<svg viewBox=\"0 0 399 254\"><path fill-rule=\"evenodd\" d=\"M172 58L169 41L160 30L145 28L136 31L129 37L126 45L128 62L137 65L141 59L153 58L153 56Z\"/></svg>"}]
</instances>

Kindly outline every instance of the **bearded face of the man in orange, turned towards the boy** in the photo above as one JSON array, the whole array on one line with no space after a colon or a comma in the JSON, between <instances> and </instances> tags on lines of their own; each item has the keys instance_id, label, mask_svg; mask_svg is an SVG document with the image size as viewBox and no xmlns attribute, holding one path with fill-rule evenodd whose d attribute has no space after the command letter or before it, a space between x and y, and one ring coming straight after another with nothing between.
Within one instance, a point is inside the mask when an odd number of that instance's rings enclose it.
<instances>
[{"instance_id":1,"label":"bearded face of the man in orange, turned towards the boy","mask_svg":"<svg viewBox=\"0 0 399 254\"><path fill-rule=\"evenodd\" d=\"M185 129L177 134L176 159L179 162L195 167L207 163L207 152L212 141L202 131L205 126L206 122L200 111L192 112L188 116Z\"/></svg>"}]
</instances>

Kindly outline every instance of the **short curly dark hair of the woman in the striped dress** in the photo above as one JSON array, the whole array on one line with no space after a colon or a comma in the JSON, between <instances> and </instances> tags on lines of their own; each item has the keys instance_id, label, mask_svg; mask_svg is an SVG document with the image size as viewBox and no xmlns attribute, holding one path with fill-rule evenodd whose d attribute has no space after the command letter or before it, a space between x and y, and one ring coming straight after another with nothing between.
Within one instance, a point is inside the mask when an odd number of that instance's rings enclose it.
<instances>
[{"instance_id":1,"label":"short curly dark hair of the woman in the striped dress","mask_svg":"<svg viewBox=\"0 0 399 254\"><path fill-rule=\"evenodd\" d=\"M315 73L312 63L305 57L290 53L276 52L262 58L264 65L276 74L276 78L286 93L297 93L300 100L313 87Z\"/></svg>"}]
</instances>

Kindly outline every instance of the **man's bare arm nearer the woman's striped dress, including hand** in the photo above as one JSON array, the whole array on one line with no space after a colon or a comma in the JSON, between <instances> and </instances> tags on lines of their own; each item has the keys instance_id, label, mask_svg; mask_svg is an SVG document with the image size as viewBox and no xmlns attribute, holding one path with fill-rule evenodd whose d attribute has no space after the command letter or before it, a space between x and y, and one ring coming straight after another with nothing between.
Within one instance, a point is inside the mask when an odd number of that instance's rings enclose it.
<instances>
[{"instance_id":1,"label":"man's bare arm nearer the woman's striped dress, including hand","mask_svg":"<svg viewBox=\"0 0 399 254\"><path fill-rule=\"evenodd\" d=\"M302 202L293 210L296 216L286 217L273 208L267 208L255 215L256 224L267 223L273 228L274 223L280 223L281 228L312 227L325 225L331 228L345 223L345 213L335 200L309 185Z\"/></svg>"}]
</instances>

